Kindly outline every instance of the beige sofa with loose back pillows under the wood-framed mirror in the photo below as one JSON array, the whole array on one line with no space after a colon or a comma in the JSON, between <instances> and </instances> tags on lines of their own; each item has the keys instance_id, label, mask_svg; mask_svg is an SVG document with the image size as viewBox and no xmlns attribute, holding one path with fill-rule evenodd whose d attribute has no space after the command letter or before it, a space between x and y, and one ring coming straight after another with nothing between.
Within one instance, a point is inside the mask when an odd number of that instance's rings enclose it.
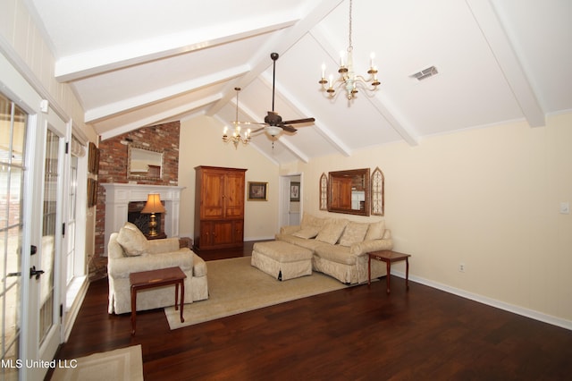
<instances>
[{"instance_id":1,"label":"beige sofa with loose back pillows under the wood-framed mirror","mask_svg":"<svg viewBox=\"0 0 572 381\"><path fill-rule=\"evenodd\" d=\"M344 284L367 281L367 253L391 250L391 231L385 221L359 223L345 218L304 214L299 225L282 226L276 240L312 250L312 269ZM372 261L372 279L386 275L383 262Z\"/></svg>"}]
</instances>

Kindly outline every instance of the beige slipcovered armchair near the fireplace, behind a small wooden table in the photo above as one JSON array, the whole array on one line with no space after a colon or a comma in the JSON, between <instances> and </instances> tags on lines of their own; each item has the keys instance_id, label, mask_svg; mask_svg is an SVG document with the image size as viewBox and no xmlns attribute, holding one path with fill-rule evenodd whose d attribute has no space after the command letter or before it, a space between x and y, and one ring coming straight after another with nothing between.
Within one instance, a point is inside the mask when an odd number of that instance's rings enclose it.
<instances>
[{"instance_id":1,"label":"beige slipcovered armchair near the fireplace, behind a small wooden table","mask_svg":"<svg viewBox=\"0 0 572 381\"><path fill-rule=\"evenodd\" d=\"M185 279L185 303L208 298L206 263L189 248L179 248L178 238L147 241L134 224L126 223L109 238L107 276L110 314L131 311L130 273L181 267ZM137 310L159 309L174 305L174 287L141 290Z\"/></svg>"}]
</instances>

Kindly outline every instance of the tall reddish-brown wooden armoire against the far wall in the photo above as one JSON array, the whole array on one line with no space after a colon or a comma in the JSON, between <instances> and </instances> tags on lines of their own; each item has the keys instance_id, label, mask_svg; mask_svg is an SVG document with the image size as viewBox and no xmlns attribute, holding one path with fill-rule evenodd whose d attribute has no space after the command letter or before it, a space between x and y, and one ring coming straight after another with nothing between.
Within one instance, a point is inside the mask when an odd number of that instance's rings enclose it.
<instances>
[{"instance_id":1,"label":"tall reddish-brown wooden armoire against the far wall","mask_svg":"<svg viewBox=\"0 0 572 381\"><path fill-rule=\"evenodd\" d=\"M196 250L242 246L246 171L219 166L195 167Z\"/></svg>"}]
</instances>

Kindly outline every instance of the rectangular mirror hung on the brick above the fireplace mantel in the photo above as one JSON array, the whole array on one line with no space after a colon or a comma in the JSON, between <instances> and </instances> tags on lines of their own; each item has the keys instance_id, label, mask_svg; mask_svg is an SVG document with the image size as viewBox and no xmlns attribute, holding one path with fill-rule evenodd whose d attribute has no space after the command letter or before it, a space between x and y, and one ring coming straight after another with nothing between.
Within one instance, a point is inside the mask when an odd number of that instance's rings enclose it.
<instances>
[{"instance_id":1,"label":"rectangular mirror hung on the brick above the fireplace mantel","mask_svg":"<svg viewBox=\"0 0 572 381\"><path fill-rule=\"evenodd\" d=\"M130 144L127 160L127 177L155 180L163 178L163 152Z\"/></svg>"}]
</instances>

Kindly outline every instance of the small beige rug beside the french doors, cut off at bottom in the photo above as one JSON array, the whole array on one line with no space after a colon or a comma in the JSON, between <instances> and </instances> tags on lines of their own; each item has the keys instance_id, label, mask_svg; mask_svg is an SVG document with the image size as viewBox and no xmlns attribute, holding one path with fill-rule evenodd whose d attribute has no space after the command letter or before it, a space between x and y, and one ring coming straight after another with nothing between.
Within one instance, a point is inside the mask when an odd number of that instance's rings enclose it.
<instances>
[{"instance_id":1,"label":"small beige rug beside the french doors, cut off at bottom","mask_svg":"<svg viewBox=\"0 0 572 381\"><path fill-rule=\"evenodd\" d=\"M143 380L141 345L65 360L64 364L55 368L52 380Z\"/></svg>"}]
</instances>

